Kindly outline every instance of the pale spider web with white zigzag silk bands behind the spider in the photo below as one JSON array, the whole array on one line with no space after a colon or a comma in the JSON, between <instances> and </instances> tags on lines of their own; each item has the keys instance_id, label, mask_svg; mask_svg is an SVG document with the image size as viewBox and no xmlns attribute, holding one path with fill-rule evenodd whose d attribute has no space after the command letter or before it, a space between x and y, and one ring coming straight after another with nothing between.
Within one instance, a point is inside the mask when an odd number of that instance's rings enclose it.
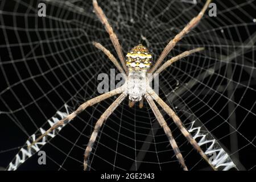
<instances>
[{"instance_id":1,"label":"pale spider web with white zigzag silk bands behind the spider","mask_svg":"<svg viewBox=\"0 0 256 182\"><path fill-rule=\"evenodd\" d=\"M38 4L46 3L46 17ZM123 52L143 43L154 58L203 7L202 1L99 1ZM208 13L167 58L205 47L159 76L170 105L218 169L255 169L255 1L214 1ZM81 170L93 127L116 97L89 107L31 150L27 145L84 101L98 96L100 73L114 68L91 44L117 57L90 1L0 2L0 166L9 170ZM117 73L117 70L116 70ZM127 99L102 126L91 170L181 169L148 104ZM208 165L162 111L189 169ZM38 151L47 164L38 164Z\"/></svg>"}]
</instances>

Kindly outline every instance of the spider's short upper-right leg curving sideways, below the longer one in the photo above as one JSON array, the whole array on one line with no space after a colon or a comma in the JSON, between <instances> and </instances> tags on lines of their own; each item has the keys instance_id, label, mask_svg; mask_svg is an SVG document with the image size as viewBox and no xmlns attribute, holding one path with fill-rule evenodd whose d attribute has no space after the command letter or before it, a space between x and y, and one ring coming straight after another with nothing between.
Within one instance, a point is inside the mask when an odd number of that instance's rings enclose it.
<instances>
[{"instance_id":1,"label":"spider's short upper-right leg curving sideways, below the longer one","mask_svg":"<svg viewBox=\"0 0 256 182\"><path fill-rule=\"evenodd\" d=\"M172 63L174 63L175 61L177 60L180 60L182 59L183 57L187 57L189 55L191 55L192 53L195 53L195 52L199 52L199 51L203 51L204 50L204 47L199 47L199 48L195 48L195 49L192 49L192 50L189 50L189 51L185 51L183 53L180 53L179 55L175 56L175 57L172 57L170 60L166 61L166 63L164 63L160 68L158 68L154 73L160 73L162 71L164 71L164 69L166 69L167 67L170 67L170 65Z\"/></svg>"}]
</instances>

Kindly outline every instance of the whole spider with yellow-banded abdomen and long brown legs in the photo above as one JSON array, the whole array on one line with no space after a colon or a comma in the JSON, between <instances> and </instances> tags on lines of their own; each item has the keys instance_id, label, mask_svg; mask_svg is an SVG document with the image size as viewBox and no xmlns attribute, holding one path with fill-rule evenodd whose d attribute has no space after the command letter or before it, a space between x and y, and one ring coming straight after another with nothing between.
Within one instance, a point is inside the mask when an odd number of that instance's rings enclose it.
<instances>
[{"instance_id":1,"label":"whole spider with yellow-banded abdomen and long brown legs","mask_svg":"<svg viewBox=\"0 0 256 182\"><path fill-rule=\"evenodd\" d=\"M187 171L188 168L185 164L185 161L183 159L183 156L179 150L179 147L177 146L177 143L175 142L174 137L172 136L172 132L170 128L168 127L166 121L163 118L163 115L160 113L158 107L156 106L155 102L158 103L160 107L172 118L176 126L179 128L181 133L184 135L185 138L187 138L188 142L191 143L193 148L199 154L201 157L206 160L206 162L209 164L209 166L213 170L217 170L216 167L213 166L212 163L210 163L207 155L201 150L199 144L196 142L195 139L193 139L192 135L188 132L187 129L183 126L183 123L181 122L180 118L175 114L175 112L169 107L159 96L154 92L154 90L150 87L149 82L154 79L148 78L147 73L161 73L164 69L167 67L170 67L172 63L175 61L189 56L192 53L202 51L204 48L195 48L189 51L185 51L181 53L180 55L177 55L175 57L172 57L170 60L167 60L164 64L162 64L164 58L168 55L168 53L174 48L177 42L183 38L184 35L188 34L188 32L195 27L199 22L200 19L203 17L205 11L207 10L207 7L209 6L211 0L207 0L205 3L203 9L200 11L200 13L195 16L184 28L182 31L177 34L174 39L172 39L167 46L163 49L163 52L158 57L158 60L156 60L156 63L152 65L152 55L148 51L146 47L144 47L142 44L139 44L138 46L135 46L131 49L125 57L122 53L121 45L118 42L117 35L114 33L112 27L110 26L108 19L106 18L106 15L104 14L104 11L102 11L101 7L98 6L97 0L93 0L93 8L94 12L96 13L97 17L100 19L100 22L104 24L106 31L109 34L110 40L113 43L113 46L115 48L115 51L117 51L117 55L119 60L121 61L121 65L115 59L115 57L110 53L108 49L106 49L104 46L102 46L100 43L93 42L93 45L100 49L102 52L105 53L106 56L109 57L110 61L115 65L115 67L119 70L119 72L126 75L125 84L120 86L117 89L114 89L108 93L101 94L100 96L94 97L89 101L84 102L84 104L81 104L77 110L73 111L73 113L69 114L66 118L61 119L59 122L55 123L50 129L46 131L43 135L41 135L39 138L37 138L33 143L30 144L31 147L35 143L37 143L40 139L48 135L51 131L55 130L57 127L64 125L65 123L71 121L73 118L75 118L79 113L84 111L88 106L92 106L94 104L97 104L98 102L101 102L105 100L106 98L115 96L119 94L119 97L108 107L108 109L105 110L105 112L101 115L100 119L96 122L96 125L94 126L94 130L92 135L90 136L88 145L86 146L85 153L84 153L84 170L88 167L88 158L92 151L93 144L97 138L98 131L100 130L102 124L106 119L109 117L110 114L113 113L113 111L117 108L119 104L126 98L126 96L129 96L129 106L132 107L135 102L139 102L139 107L143 107L143 99L145 98L148 104L150 105L156 119L158 120L160 126L163 128L164 133L167 135L167 138L171 144L171 147L174 150L174 153L176 155L177 160L179 161L181 167L184 169L184 171ZM162 65L161 65L162 64ZM160 67L159 67L160 66Z\"/></svg>"}]
</instances>

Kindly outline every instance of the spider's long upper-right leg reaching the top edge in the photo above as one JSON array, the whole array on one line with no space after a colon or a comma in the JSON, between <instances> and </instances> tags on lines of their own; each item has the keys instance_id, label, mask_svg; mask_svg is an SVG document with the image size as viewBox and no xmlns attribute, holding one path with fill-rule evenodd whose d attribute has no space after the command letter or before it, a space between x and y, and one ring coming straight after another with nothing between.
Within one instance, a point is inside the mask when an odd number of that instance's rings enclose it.
<instances>
[{"instance_id":1,"label":"spider's long upper-right leg reaching the top edge","mask_svg":"<svg viewBox=\"0 0 256 182\"><path fill-rule=\"evenodd\" d=\"M177 42L179 42L179 40L181 40L186 34L188 34L188 32L194 28L197 23L200 22L201 18L203 17L205 11L207 10L209 3L211 0L207 0L207 2L205 3L203 9L200 11L200 13L193 18L188 24L187 26L185 26L183 28L183 30L181 30L179 32L179 34L177 34L174 39L172 39L167 46L164 48L163 52L161 53L161 55L158 57L158 60L156 61L156 63L154 64L154 66L148 71L148 73L154 73L156 68L159 67L159 65L162 63L162 61L164 60L164 58L168 55L168 53L172 50L172 48L174 48L174 46L176 45Z\"/></svg>"}]
</instances>

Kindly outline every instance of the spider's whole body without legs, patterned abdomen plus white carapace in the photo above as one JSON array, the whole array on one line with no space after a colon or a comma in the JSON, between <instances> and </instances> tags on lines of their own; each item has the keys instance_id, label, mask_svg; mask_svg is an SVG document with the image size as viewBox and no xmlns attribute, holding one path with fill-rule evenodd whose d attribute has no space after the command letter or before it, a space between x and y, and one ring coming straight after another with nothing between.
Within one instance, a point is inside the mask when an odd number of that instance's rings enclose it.
<instances>
[{"instance_id":1,"label":"spider's whole body without legs, patterned abdomen plus white carapace","mask_svg":"<svg viewBox=\"0 0 256 182\"><path fill-rule=\"evenodd\" d=\"M126 81L127 94L132 102L141 101L149 86L147 71L150 68L152 55L142 44L135 46L126 55L128 77Z\"/></svg>"}]
</instances>

